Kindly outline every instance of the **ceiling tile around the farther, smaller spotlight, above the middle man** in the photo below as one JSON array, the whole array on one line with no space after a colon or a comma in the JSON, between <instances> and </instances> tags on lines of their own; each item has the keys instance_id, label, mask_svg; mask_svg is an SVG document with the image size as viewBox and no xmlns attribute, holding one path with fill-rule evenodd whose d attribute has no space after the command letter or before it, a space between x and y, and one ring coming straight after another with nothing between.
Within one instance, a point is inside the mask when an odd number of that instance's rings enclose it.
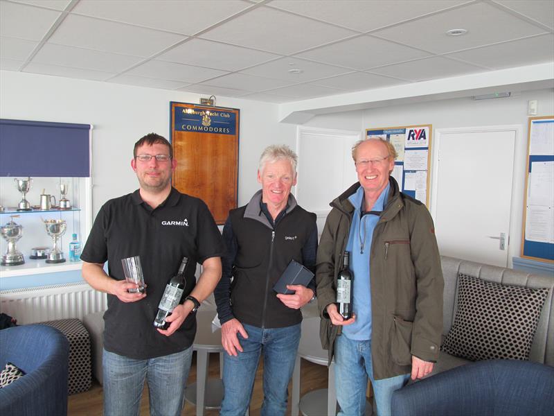
<instances>
[{"instance_id":1,"label":"ceiling tile around the farther, smaller spotlight, above the middle man","mask_svg":"<svg viewBox=\"0 0 554 416\"><path fill-rule=\"evenodd\" d=\"M302 72L291 73L289 72L291 69L298 69ZM297 58L281 58L241 71L241 73L250 73L251 75L287 80L290 83L302 83L346 72L350 72L350 70Z\"/></svg>"}]
</instances>

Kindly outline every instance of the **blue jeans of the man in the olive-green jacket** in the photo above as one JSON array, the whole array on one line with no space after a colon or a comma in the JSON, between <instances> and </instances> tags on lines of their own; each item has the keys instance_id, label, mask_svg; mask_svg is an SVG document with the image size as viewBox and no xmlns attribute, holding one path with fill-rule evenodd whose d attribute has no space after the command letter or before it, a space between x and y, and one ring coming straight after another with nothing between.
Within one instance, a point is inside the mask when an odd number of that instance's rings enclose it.
<instances>
[{"instance_id":1,"label":"blue jeans of the man in the olive-green jacket","mask_svg":"<svg viewBox=\"0 0 554 416\"><path fill-rule=\"evenodd\" d=\"M334 363L337 401L341 406L339 415L364 415L368 376L373 385L377 414L379 416L392 414L393 392L402 388L410 374L382 380L373 379L371 341L350 340L344 335L338 336L335 340Z\"/></svg>"}]
</instances>

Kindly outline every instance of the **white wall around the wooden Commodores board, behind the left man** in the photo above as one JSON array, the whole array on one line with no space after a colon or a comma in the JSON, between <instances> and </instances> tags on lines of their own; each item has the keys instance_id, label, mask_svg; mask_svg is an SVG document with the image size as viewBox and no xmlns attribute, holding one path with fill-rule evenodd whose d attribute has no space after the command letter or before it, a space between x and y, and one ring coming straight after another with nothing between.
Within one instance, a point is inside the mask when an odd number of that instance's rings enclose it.
<instances>
[{"instance_id":1,"label":"white wall around the wooden Commodores board, behind the left man","mask_svg":"<svg viewBox=\"0 0 554 416\"><path fill-rule=\"evenodd\" d=\"M199 103L199 94L0 71L0 117L92 124L93 216L109 198L138 187L134 142L150 132L169 139L170 101ZM259 189L258 159L269 144L296 146L296 126L278 123L270 103L218 98L240 109L238 204ZM24 157L24 156L21 156Z\"/></svg>"}]
</instances>

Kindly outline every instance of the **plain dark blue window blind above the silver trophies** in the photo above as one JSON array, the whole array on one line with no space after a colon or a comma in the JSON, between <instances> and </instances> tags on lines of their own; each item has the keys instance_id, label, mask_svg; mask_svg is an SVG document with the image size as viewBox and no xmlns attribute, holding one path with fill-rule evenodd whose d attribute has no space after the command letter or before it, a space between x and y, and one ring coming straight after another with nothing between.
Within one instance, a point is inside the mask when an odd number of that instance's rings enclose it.
<instances>
[{"instance_id":1,"label":"plain dark blue window blind above the silver trophies","mask_svg":"<svg viewBox=\"0 0 554 416\"><path fill-rule=\"evenodd\" d=\"M0 176L90 176L90 128L0 119Z\"/></svg>"}]
</instances>

